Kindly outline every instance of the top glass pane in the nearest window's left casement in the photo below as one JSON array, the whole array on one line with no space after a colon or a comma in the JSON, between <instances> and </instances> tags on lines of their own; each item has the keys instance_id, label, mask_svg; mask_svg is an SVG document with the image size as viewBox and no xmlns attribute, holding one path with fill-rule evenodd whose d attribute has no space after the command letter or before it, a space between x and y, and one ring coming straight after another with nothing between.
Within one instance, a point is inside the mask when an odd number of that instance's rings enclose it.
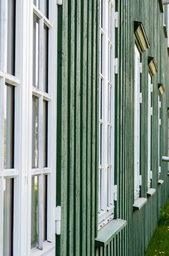
<instances>
[{"instance_id":1,"label":"top glass pane in the nearest window's left casement","mask_svg":"<svg viewBox=\"0 0 169 256\"><path fill-rule=\"evenodd\" d=\"M7 72L14 75L14 0L8 0Z\"/></svg>"}]
</instances>

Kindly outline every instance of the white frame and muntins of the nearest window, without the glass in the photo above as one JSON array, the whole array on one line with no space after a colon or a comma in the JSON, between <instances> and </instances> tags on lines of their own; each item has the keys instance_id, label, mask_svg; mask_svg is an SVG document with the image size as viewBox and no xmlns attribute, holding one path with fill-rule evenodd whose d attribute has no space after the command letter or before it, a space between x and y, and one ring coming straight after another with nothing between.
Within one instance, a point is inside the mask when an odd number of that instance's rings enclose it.
<instances>
[{"instance_id":1,"label":"white frame and muntins of the nearest window, without the glass","mask_svg":"<svg viewBox=\"0 0 169 256\"><path fill-rule=\"evenodd\" d=\"M56 207L56 57L57 56L57 5L50 0L50 22L31 1L16 1L16 47L15 76L7 73L7 6L8 1L1 1L0 15L0 106L3 106L3 87L5 82L15 86L14 115L14 169L3 169L3 157L0 157L0 206L3 206L3 178L14 178L14 224L13 255L40 256L55 255L55 207ZM33 12L41 23L50 26L48 50L48 94L32 88L32 33ZM53 24L54 28L52 28ZM42 36L42 33L41 33ZM42 46L43 47L43 46ZM43 54L42 54L43 55ZM41 60L42 61L42 60ZM42 82L41 73L41 82ZM48 104L48 170L31 169L31 122L32 93L49 101ZM41 104L42 105L42 104ZM55 117L55 118L54 118ZM3 109L0 109L0 155L3 156ZM40 144L41 145L41 144ZM40 166L39 164L39 167ZM47 240L42 246L31 250L31 177L48 172L48 230ZM0 207L0 255L3 255L3 207Z\"/></svg>"}]
</instances>

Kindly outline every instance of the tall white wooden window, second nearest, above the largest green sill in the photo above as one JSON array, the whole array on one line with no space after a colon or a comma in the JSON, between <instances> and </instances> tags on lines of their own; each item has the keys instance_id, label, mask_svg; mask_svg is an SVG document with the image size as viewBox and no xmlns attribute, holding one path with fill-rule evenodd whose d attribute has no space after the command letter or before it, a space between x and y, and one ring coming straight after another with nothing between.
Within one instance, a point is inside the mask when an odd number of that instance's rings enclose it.
<instances>
[{"instance_id":1,"label":"tall white wooden window, second nearest, above the largest green sill","mask_svg":"<svg viewBox=\"0 0 169 256\"><path fill-rule=\"evenodd\" d=\"M114 213L115 1L100 1L99 227Z\"/></svg>"}]
</instances>

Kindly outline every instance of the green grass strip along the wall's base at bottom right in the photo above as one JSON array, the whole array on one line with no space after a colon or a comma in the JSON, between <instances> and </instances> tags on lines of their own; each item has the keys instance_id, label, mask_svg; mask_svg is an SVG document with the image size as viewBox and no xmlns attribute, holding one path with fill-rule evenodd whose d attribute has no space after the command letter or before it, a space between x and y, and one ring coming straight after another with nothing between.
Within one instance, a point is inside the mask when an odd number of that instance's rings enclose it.
<instances>
[{"instance_id":1,"label":"green grass strip along the wall's base at bottom right","mask_svg":"<svg viewBox=\"0 0 169 256\"><path fill-rule=\"evenodd\" d=\"M169 256L169 199L161 208L161 215L144 256Z\"/></svg>"}]
</instances>

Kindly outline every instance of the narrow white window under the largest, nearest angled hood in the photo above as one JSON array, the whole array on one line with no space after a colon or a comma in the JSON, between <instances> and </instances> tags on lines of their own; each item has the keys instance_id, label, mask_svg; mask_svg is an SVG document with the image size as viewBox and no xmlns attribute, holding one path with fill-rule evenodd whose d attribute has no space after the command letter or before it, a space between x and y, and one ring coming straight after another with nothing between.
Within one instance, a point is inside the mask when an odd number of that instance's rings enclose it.
<instances>
[{"instance_id":1,"label":"narrow white window under the largest, nearest angled hood","mask_svg":"<svg viewBox=\"0 0 169 256\"><path fill-rule=\"evenodd\" d=\"M140 53L135 45L134 62L134 200L140 191Z\"/></svg>"}]
</instances>

